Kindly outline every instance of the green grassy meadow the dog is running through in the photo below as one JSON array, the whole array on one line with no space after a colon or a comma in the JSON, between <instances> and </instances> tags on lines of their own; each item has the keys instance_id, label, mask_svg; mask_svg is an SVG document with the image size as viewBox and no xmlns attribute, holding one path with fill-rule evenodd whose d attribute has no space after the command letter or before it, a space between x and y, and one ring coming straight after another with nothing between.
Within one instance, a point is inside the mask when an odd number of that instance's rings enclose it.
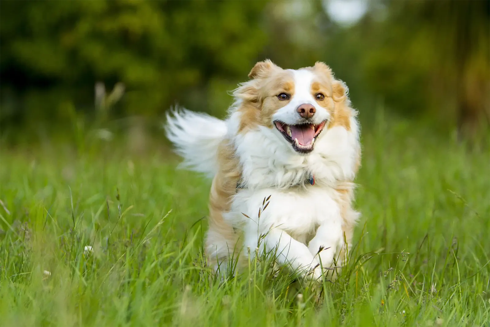
<instances>
[{"instance_id":1,"label":"green grassy meadow the dog is running through","mask_svg":"<svg viewBox=\"0 0 490 327\"><path fill-rule=\"evenodd\" d=\"M210 182L167 151L0 150L0 326L488 326L490 151L414 126L365 128L362 218L321 293L264 258L210 280Z\"/></svg>"}]
</instances>

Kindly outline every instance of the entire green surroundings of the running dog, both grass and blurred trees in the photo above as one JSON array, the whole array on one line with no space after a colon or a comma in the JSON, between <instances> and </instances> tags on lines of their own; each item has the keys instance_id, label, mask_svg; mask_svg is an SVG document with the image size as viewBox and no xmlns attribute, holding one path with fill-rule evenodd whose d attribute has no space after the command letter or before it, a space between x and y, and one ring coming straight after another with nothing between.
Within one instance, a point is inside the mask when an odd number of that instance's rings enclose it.
<instances>
[{"instance_id":1,"label":"entire green surroundings of the running dog, both grass and blurred trees","mask_svg":"<svg viewBox=\"0 0 490 327\"><path fill-rule=\"evenodd\" d=\"M210 283L210 180L164 141L265 58L360 113L322 306L263 259ZM489 122L490 0L0 0L0 326L488 326Z\"/></svg>"}]
</instances>

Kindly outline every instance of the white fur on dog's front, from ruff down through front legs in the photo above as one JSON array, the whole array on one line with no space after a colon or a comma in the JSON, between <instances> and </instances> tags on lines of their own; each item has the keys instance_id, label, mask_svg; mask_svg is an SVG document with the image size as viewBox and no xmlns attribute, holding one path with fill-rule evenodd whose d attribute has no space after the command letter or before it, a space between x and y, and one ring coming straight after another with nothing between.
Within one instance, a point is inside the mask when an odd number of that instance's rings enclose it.
<instances>
[{"instance_id":1,"label":"white fur on dog's front, from ruff down through front legs","mask_svg":"<svg viewBox=\"0 0 490 327\"><path fill-rule=\"evenodd\" d=\"M224 218L244 230L245 249L255 248L260 235L265 234L268 249L274 251L270 246L274 242L278 245L280 264L311 270L319 265L315 255L321 246L325 249L319 254L321 265L331 266L343 246L342 217L333 187L339 180L354 178L358 142L354 118L350 131L340 126L324 130L309 155L295 152L282 135L266 127L237 135L235 146L246 189L234 197ZM291 189L311 175L315 185ZM268 196L270 204L259 220L256 212ZM352 215L352 220L357 216ZM319 274L315 269L313 276Z\"/></svg>"}]
</instances>

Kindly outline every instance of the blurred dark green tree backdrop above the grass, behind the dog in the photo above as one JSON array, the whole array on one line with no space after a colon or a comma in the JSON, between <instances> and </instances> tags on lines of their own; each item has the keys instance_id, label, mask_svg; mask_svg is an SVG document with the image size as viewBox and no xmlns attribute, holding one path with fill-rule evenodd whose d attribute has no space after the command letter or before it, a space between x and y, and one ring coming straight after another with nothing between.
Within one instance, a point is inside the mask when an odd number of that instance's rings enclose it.
<instances>
[{"instance_id":1,"label":"blurred dark green tree backdrop above the grass, behind the dog","mask_svg":"<svg viewBox=\"0 0 490 327\"><path fill-rule=\"evenodd\" d=\"M366 125L382 107L473 136L490 121L489 22L490 0L2 0L1 135L150 130L176 103L223 116L270 58L329 64Z\"/></svg>"}]
</instances>

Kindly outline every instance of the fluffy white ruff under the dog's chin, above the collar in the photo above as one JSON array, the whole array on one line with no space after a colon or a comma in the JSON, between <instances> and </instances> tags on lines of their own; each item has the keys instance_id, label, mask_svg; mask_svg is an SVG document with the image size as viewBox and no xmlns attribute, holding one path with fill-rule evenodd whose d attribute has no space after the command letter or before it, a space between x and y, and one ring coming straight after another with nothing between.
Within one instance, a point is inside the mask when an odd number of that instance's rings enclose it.
<instances>
[{"instance_id":1,"label":"fluffy white ruff under the dog's chin, above the collar","mask_svg":"<svg viewBox=\"0 0 490 327\"><path fill-rule=\"evenodd\" d=\"M359 148L354 118L351 127L350 131L341 126L324 131L315 143L315 151L307 156L295 153L277 131L266 127L233 136L243 169L242 182L247 188L263 189L287 188L312 175L324 186L352 180Z\"/></svg>"}]
</instances>

